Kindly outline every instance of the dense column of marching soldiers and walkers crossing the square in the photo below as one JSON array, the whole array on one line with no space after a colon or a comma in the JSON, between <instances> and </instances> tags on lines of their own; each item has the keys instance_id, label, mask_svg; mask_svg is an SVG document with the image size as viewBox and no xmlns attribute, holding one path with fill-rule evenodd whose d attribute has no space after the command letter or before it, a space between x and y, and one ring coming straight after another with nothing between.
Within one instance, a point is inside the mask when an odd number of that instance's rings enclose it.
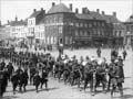
<instances>
[{"instance_id":1,"label":"dense column of marching soldiers and walkers crossing the square","mask_svg":"<svg viewBox=\"0 0 133 99\"><path fill-rule=\"evenodd\" d=\"M101 57L101 48L96 51L98 57ZM111 63L108 64L105 58L96 59L89 57L84 59L82 56L78 61L76 56L69 57L68 55L59 55L55 59L50 54L33 54L29 52L14 52L11 48L0 48L0 96L3 96L8 82L11 81L13 94L19 87L20 92L27 91L25 87L30 79L30 84L35 86L35 91L41 85L45 84L48 90L48 77L58 78L59 81L63 79L64 84L71 86L81 84L84 90L90 84L90 91L92 95L96 94L96 88L102 84L103 92L111 89L111 96L119 89L123 96L124 73L123 61L126 57L126 51L123 52L123 58L119 56L119 52L113 50L111 52ZM9 64L6 65L6 61ZM14 70L13 65L17 66ZM110 88L111 87L111 88ZM22 90L23 89L23 90Z\"/></svg>"}]
</instances>

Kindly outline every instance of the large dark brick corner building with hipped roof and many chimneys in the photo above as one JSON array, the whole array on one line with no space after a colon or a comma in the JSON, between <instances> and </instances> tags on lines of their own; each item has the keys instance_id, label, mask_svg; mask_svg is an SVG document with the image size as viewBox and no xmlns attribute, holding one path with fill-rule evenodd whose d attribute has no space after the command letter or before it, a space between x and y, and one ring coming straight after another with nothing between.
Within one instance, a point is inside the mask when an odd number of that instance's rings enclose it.
<instances>
[{"instance_id":1,"label":"large dark brick corner building with hipped roof and many chimneys","mask_svg":"<svg viewBox=\"0 0 133 99\"><path fill-rule=\"evenodd\" d=\"M116 13L106 15L104 11L90 11L82 8L73 11L72 4L52 3L43 19L45 24L45 44L57 46L109 46L123 45L124 25L116 19ZM119 35L117 35L119 34ZM117 35L117 36L116 36Z\"/></svg>"}]
</instances>

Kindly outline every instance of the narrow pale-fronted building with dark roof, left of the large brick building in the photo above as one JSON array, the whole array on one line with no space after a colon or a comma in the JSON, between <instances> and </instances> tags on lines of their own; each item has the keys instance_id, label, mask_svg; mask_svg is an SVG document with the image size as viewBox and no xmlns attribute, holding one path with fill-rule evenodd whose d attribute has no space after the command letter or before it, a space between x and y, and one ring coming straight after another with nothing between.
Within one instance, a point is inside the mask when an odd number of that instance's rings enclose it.
<instances>
[{"instance_id":1,"label":"narrow pale-fronted building with dark roof, left of the large brick building","mask_svg":"<svg viewBox=\"0 0 133 99\"><path fill-rule=\"evenodd\" d=\"M29 47L32 47L32 45L37 45L40 41L40 38L42 40L42 37L40 37L40 34L44 34L44 28L43 24L41 22L41 20L43 19L45 14L45 10L43 10L41 8L40 11L37 11L35 9L33 10L32 14L28 18L28 45L30 45ZM43 35L41 35L43 36Z\"/></svg>"}]
</instances>

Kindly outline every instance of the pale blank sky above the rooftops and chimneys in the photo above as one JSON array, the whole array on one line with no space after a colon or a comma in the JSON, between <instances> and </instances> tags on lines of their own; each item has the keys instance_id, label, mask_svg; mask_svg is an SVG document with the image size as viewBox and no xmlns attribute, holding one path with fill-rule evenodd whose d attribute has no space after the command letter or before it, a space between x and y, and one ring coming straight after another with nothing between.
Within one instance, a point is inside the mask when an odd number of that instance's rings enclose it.
<instances>
[{"instance_id":1,"label":"pale blank sky above the rooftops and chimneys","mask_svg":"<svg viewBox=\"0 0 133 99\"><path fill-rule=\"evenodd\" d=\"M0 0L0 20L2 23L7 23L7 20L14 20L16 15L19 20L28 18L33 9L40 10L41 8L47 11L51 8L51 3L60 3L60 0ZM133 13L132 8L133 0L61 0L66 7L69 3L73 3L73 11L75 8L88 7L90 11L105 11L106 14L116 12L116 16L121 21L127 20Z\"/></svg>"}]
</instances>

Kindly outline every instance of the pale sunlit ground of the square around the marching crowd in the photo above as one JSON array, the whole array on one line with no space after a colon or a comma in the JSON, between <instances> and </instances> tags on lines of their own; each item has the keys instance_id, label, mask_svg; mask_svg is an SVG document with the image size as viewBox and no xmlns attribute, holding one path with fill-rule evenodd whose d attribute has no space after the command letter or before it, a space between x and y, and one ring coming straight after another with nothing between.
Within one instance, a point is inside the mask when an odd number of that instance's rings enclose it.
<instances>
[{"instance_id":1,"label":"pale sunlit ground of the square around the marching crowd","mask_svg":"<svg viewBox=\"0 0 133 99\"><path fill-rule=\"evenodd\" d=\"M76 55L78 58L80 56L96 56L96 50L76 50L76 51L64 51L69 56ZM120 52L121 54L122 52ZM51 53L53 56L58 56L58 52L53 51ZM110 62L110 50L102 51L102 57L106 57L108 62ZM124 88L124 97L121 98L119 92L115 92L113 99L133 99L133 53L127 51L127 57L124 62L124 74L125 74L125 82L123 85ZM7 92L3 96L3 99L112 99L110 92L103 94L99 91L95 96L91 96L90 88L84 92L82 89L78 88L78 86L71 87L69 84L64 85L63 81L59 82L54 78L49 78L49 91L44 89L39 89L40 91L37 94L34 86L28 85L27 92L20 94L17 92L13 95L12 86L9 82L7 88ZM81 86L82 88L83 86ZM98 88L98 90L102 90L102 88Z\"/></svg>"}]
</instances>

